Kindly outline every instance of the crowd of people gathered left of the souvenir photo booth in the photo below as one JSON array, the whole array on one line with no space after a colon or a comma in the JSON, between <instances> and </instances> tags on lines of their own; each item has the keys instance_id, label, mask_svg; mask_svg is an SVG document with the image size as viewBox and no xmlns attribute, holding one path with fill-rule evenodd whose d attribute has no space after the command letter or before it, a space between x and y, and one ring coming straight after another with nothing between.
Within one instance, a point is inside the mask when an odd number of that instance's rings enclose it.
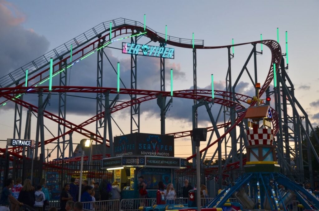
<instances>
[{"instance_id":1,"label":"crowd of people gathered left of the souvenir photo booth","mask_svg":"<svg viewBox=\"0 0 319 211\"><path fill-rule=\"evenodd\" d=\"M17 178L16 182L12 178L5 181L5 186L0 196L0 211L19 211L20 207L44 211L49 206L51 194L46 186L46 179L42 178L39 185L33 187L30 179L26 179L22 183L21 178ZM110 193L116 199L120 199L121 190L116 183L112 185L108 181L107 175L102 177L101 185L95 183L94 180L83 181L79 196L79 186L75 178L70 179L70 184L65 183L60 193L60 211L81 211L83 208L95 210L94 201L109 200ZM90 202L90 203L82 203ZM49 211L57 210L56 207L49 207Z\"/></svg>"}]
</instances>

